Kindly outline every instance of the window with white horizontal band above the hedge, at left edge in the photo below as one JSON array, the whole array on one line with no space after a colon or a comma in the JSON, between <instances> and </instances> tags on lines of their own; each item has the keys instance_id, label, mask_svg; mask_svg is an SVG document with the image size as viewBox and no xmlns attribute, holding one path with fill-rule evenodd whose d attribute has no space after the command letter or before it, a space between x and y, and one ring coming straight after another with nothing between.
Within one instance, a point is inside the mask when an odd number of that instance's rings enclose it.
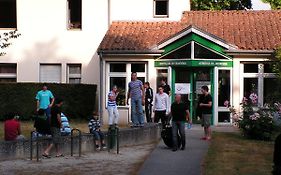
<instances>
[{"instance_id":1,"label":"window with white horizontal band above the hedge, at left edge","mask_svg":"<svg viewBox=\"0 0 281 175\"><path fill-rule=\"evenodd\" d=\"M0 83L17 82L17 65L0 64Z\"/></svg>"}]
</instances>

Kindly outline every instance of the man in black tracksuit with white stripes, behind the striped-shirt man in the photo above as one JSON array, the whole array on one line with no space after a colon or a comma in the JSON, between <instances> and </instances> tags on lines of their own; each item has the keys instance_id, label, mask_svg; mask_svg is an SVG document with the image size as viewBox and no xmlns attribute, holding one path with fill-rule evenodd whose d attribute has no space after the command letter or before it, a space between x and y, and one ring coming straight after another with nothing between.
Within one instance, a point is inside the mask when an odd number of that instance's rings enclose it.
<instances>
[{"instance_id":1,"label":"man in black tracksuit with white stripes, behind the striped-shirt man","mask_svg":"<svg viewBox=\"0 0 281 175\"><path fill-rule=\"evenodd\" d=\"M152 122L151 112L152 112L152 102L153 102L153 90L150 87L149 82L144 83L145 88L145 116L147 123Z\"/></svg>"}]
</instances>

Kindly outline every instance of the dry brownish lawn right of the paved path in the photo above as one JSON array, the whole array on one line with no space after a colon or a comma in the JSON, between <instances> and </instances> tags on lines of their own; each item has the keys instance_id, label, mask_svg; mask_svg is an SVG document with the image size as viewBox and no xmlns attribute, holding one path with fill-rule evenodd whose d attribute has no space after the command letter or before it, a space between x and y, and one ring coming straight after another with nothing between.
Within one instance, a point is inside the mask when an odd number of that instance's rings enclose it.
<instances>
[{"instance_id":1,"label":"dry brownish lawn right of the paved path","mask_svg":"<svg viewBox=\"0 0 281 175\"><path fill-rule=\"evenodd\" d=\"M274 143L247 140L239 133L214 133L204 175L271 175Z\"/></svg>"}]
</instances>

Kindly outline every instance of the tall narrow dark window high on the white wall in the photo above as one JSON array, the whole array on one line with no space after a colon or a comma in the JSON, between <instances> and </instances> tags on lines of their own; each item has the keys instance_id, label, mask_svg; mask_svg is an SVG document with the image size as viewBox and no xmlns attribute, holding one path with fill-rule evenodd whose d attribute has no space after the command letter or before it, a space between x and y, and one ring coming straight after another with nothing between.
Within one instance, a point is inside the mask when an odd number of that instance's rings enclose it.
<instances>
[{"instance_id":1,"label":"tall narrow dark window high on the white wall","mask_svg":"<svg viewBox=\"0 0 281 175\"><path fill-rule=\"evenodd\" d=\"M82 28L82 0L68 0L68 29Z\"/></svg>"}]
</instances>

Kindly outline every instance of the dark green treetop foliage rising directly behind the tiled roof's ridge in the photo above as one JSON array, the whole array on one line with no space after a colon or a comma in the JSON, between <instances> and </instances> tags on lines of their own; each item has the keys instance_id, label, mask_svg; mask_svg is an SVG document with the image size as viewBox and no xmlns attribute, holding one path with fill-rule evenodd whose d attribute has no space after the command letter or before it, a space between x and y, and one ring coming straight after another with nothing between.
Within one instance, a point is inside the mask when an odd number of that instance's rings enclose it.
<instances>
[{"instance_id":1,"label":"dark green treetop foliage rising directly behind the tiled roof's ridge","mask_svg":"<svg viewBox=\"0 0 281 175\"><path fill-rule=\"evenodd\" d=\"M251 0L191 0L191 10L245 10L251 8Z\"/></svg>"}]
</instances>

